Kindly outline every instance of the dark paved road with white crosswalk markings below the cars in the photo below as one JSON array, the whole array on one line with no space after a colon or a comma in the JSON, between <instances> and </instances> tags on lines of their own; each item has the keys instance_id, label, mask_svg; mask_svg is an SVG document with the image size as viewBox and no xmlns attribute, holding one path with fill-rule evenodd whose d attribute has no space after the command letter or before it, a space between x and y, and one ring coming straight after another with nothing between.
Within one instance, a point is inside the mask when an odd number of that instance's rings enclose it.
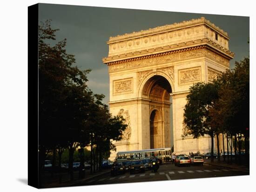
<instances>
[{"instance_id":1,"label":"dark paved road with white crosswalk markings below the cars","mask_svg":"<svg viewBox=\"0 0 256 192\"><path fill-rule=\"evenodd\" d=\"M136 174L120 174L115 177L110 176L110 173L98 176L96 178L86 180L79 185L102 185L115 183L131 183L145 181L162 181L175 179L195 179L208 177L225 177L249 175L249 172L237 171L235 169L226 169L218 166L190 166L177 167L172 164L163 164L160 166L157 173L146 171L145 173Z\"/></svg>"}]
</instances>

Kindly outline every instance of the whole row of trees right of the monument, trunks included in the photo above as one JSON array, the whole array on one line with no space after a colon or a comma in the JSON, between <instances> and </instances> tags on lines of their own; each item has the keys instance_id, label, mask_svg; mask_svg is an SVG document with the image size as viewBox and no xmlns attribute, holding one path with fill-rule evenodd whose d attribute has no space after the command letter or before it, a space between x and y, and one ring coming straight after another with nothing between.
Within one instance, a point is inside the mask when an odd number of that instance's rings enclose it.
<instances>
[{"instance_id":1,"label":"whole row of trees right of the monument, trunks included","mask_svg":"<svg viewBox=\"0 0 256 192\"><path fill-rule=\"evenodd\" d=\"M234 69L226 70L212 83L196 83L190 87L189 91L188 102L184 109L183 136L193 135L194 138L198 138L208 134L211 137L212 161L215 136L218 161L220 161L220 134L222 134L223 146L227 146L228 161L229 154L232 154L234 148L236 162L239 160L238 163L241 164L242 143L244 143L248 163L249 58L236 62ZM224 141L224 135L226 141ZM232 146L233 140L234 146ZM238 149L239 158L237 158L236 149ZM224 147L223 153L225 153Z\"/></svg>"}]
</instances>

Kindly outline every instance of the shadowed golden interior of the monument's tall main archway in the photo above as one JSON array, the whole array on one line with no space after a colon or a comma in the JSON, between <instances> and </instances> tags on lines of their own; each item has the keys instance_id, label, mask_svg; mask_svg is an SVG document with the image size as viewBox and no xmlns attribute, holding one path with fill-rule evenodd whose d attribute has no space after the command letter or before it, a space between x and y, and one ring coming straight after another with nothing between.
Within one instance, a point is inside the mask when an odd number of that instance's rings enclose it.
<instances>
[{"instance_id":1,"label":"shadowed golden interior of the monument's tall main archway","mask_svg":"<svg viewBox=\"0 0 256 192\"><path fill-rule=\"evenodd\" d=\"M141 97L149 99L150 148L171 147L173 135L172 87L165 77L155 75L144 84Z\"/></svg>"}]
</instances>

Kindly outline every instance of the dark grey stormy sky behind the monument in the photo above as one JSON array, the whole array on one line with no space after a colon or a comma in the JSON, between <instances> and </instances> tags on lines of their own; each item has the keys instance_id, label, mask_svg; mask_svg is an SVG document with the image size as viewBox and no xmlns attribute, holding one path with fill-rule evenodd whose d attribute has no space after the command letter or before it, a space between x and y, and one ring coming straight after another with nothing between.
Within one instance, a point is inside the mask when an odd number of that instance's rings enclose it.
<instances>
[{"instance_id":1,"label":"dark grey stormy sky behind the monument","mask_svg":"<svg viewBox=\"0 0 256 192\"><path fill-rule=\"evenodd\" d=\"M228 32L229 50L235 53L231 68L235 61L249 56L249 17L39 4L39 21L52 19L53 28L60 29L56 40L67 38L67 53L75 55L76 65L81 70L92 69L88 86L94 93L103 93L105 103L109 101L109 78L101 58L108 56L106 41L110 36L200 17Z\"/></svg>"}]
</instances>

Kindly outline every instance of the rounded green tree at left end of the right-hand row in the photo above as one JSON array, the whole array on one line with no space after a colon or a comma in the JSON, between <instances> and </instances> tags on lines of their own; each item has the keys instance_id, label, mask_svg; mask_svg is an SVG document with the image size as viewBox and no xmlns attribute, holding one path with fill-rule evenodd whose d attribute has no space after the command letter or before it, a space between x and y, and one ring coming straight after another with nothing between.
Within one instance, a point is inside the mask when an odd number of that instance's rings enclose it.
<instances>
[{"instance_id":1,"label":"rounded green tree at left end of the right-hand row","mask_svg":"<svg viewBox=\"0 0 256 192\"><path fill-rule=\"evenodd\" d=\"M196 83L189 88L187 104L184 108L183 136L194 138L208 134L211 137L211 160L213 161L214 135L216 129L209 125L209 109L218 98L217 87L213 83Z\"/></svg>"}]
</instances>

